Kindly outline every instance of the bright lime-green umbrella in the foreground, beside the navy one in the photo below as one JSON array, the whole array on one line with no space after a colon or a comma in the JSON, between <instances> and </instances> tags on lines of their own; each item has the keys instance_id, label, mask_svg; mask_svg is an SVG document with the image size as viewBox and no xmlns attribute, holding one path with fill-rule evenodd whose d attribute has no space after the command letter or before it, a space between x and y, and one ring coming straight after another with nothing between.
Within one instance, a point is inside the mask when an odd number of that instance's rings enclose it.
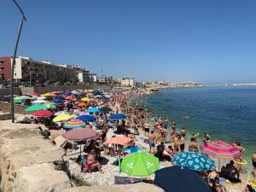
<instances>
[{"instance_id":1,"label":"bright lime-green umbrella in the foreground, beside the navy one","mask_svg":"<svg viewBox=\"0 0 256 192\"><path fill-rule=\"evenodd\" d=\"M159 168L158 158L148 152L127 155L121 163L122 172L134 177L147 177Z\"/></svg>"}]
</instances>

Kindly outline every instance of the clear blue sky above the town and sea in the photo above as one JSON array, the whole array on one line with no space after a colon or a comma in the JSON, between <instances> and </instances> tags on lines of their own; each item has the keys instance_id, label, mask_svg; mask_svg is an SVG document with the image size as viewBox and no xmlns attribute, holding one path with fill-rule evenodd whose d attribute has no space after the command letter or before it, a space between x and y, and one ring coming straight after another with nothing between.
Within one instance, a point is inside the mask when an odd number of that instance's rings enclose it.
<instances>
[{"instance_id":1,"label":"clear blue sky above the town and sea","mask_svg":"<svg viewBox=\"0 0 256 192\"><path fill-rule=\"evenodd\" d=\"M255 0L18 1L18 55L145 81L256 83ZM0 55L12 55L20 14L0 7Z\"/></svg>"}]
</instances>

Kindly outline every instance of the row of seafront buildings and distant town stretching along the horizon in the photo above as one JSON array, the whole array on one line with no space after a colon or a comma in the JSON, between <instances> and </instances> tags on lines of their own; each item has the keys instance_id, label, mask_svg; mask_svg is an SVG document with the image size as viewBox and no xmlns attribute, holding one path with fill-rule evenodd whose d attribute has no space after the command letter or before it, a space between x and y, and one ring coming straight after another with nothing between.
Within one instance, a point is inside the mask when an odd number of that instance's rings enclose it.
<instances>
[{"instance_id":1,"label":"row of seafront buildings and distant town stretching along the horizon","mask_svg":"<svg viewBox=\"0 0 256 192\"><path fill-rule=\"evenodd\" d=\"M8 87L11 73L11 56L0 57L0 88ZM32 57L19 56L15 59L15 86L58 85L58 84L113 84L121 87L200 87L215 86L213 84L199 84L196 82L153 81L137 82L134 77L113 79L103 73L91 73L89 69L77 64L55 64L51 61L37 61ZM225 84L225 86L255 86L256 84Z\"/></svg>"}]
</instances>

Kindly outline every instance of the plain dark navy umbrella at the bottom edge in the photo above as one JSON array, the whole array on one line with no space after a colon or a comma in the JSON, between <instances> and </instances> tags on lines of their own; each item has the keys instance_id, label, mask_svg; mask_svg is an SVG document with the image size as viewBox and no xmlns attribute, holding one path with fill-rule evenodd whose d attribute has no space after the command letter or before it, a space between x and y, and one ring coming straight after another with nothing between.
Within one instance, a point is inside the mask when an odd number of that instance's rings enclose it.
<instances>
[{"instance_id":1,"label":"plain dark navy umbrella at the bottom edge","mask_svg":"<svg viewBox=\"0 0 256 192\"><path fill-rule=\"evenodd\" d=\"M212 191L197 172L181 166L170 166L154 172L154 184L166 192Z\"/></svg>"}]
</instances>

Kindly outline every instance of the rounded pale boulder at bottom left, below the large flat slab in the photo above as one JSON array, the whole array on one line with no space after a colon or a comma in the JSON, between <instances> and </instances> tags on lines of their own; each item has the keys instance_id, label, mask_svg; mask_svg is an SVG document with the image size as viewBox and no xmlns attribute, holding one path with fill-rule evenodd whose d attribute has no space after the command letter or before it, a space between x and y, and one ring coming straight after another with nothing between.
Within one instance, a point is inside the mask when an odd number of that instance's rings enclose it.
<instances>
[{"instance_id":1,"label":"rounded pale boulder at bottom left, below the large flat slab","mask_svg":"<svg viewBox=\"0 0 256 192\"><path fill-rule=\"evenodd\" d=\"M59 192L69 187L71 183L65 172L56 171L53 164L43 163L20 168L16 172L13 191Z\"/></svg>"}]
</instances>

